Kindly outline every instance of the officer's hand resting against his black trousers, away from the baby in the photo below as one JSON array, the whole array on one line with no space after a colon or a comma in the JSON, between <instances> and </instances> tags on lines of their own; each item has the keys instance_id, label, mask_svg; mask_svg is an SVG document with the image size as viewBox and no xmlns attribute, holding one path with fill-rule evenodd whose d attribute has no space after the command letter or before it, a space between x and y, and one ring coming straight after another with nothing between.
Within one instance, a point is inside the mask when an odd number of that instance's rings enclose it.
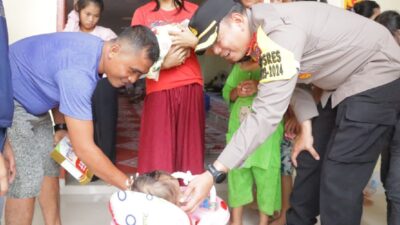
<instances>
[{"instance_id":1,"label":"officer's hand resting against his black trousers, away from the baby","mask_svg":"<svg viewBox=\"0 0 400 225\"><path fill-rule=\"evenodd\" d=\"M315 160L320 159L317 151L313 147L314 138L311 131L311 120L304 121L301 124L301 133L296 138L292 151L291 159L295 167L297 167L297 156L304 150L308 151Z\"/></svg>"}]
</instances>

